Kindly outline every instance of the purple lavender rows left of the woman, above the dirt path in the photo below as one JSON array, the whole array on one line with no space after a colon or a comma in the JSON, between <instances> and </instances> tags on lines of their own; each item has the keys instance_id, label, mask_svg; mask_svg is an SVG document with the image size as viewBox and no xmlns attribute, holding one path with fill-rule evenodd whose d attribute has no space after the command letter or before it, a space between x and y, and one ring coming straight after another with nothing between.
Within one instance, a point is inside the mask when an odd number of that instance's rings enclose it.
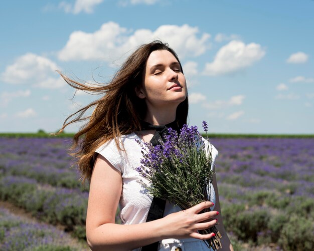
<instances>
[{"instance_id":1,"label":"purple lavender rows left of the woman, above the dirt path","mask_svg":"<svg viewBox=\"0 0 314 251\"><path fill-rule=\"evenodd\" d=\"M70 168L69 144L61 138L1 138L0 199L84 239L88 191Z\"/></svg>"}]
</instances>

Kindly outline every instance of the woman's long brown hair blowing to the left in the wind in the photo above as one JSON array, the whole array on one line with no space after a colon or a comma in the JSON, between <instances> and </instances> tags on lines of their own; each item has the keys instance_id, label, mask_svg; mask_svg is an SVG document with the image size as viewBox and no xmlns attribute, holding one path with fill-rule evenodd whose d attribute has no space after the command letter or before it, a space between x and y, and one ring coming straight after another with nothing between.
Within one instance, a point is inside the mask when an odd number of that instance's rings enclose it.
<instances>
[{"instance_id":1,"label":"woman's long brown hair blowing to the left in the wind","mask_svg":"<svg viewBox=\"0 0 314 251\"><path fill-rule=\"evenodd\" d=\"M156 50L171 52L181 66L176 52L168 44L156 40L138 47L126 59L112 80L103 85L85 85L59 72L64 80L77 90L104 94L100 99L70 115L59 131L61 133L70 124L87 121L74 135L71 147L74 151L72 155L77 157L83 183L86 180L90 181L94 165L93 155L99 146L110 139L114 139L119 146L121 135L141 130L140 121L144 119L147 107L145 100L136 96L135 88L142 84L146 61L150 53ZM93 114L84 116L92 107ZM188 107L187 97L177 108L176 122L180 128L187 123Z\"/></svg>"}]
</instances>

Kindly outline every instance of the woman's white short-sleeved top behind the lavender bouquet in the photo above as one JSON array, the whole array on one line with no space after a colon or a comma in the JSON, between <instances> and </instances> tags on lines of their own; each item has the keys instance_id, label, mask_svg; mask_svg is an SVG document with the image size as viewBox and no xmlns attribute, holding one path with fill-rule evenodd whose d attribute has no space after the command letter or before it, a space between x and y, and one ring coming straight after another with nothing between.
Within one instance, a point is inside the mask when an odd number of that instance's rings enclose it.
<instances>
[{"instance_id":1,"label":"woman's white short-sleeved top behind the lavender bouquet","mask_svg":"<svg viewBox=\"0 0 314 251\"><path fill-rule=\"evenodd\" d=\"M143 182L149 184L148 181L143 179L135 170L136 167L141 165L140 159L142 158L141 146L135 139L143 142L135 133L121 136L120 142L123 143L125 151L120 151L113 139L109 140L95 151L105 157L112 166L122 174L122 192L119 201L122 224L138 224L145 222L152 201L152 197L143 191L143 187L137 182L141 179ZM206 140L205 143L209 144ZM121 149L123 149L122 145ZM214 161L217 155L218 151L212 146L212 169L214 168ZM214 188L210 190L212 191L211 201L215 203ZM214 206L211 207L212 210L213 208ZM174 206L167 201L164 216L180 210L182 209L179 206ZM187 248L188 245L191 245L191 249ZM175 247L179 246L185 251L202 250L199 249L200 245L204 245L204 242L195 238L165 239L161 241L159 250L173 250ZM206 245L204 247L206 247ZM206 248L207 249L204 250L208 250L208 247ZM136 248L134 250L139 251L140 249L141 248Z\"/></svg>"}]
</instances>

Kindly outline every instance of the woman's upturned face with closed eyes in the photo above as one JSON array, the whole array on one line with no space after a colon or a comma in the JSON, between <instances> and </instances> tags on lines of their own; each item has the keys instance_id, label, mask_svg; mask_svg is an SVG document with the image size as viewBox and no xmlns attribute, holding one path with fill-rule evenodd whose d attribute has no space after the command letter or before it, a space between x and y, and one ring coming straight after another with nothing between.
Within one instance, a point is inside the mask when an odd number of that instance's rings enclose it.
<instances>
[{"instance_id":1,"label":"woman's upturned face with closed eyes","mask_svg":"<svg viewBox=\"0 0 314 251\"><path fill-rule=\"evenodd\" d=\"M146 62L143 84L137 96L147 107L178 106L187 97L186 79L175 56L166 50L153 51Z\"/></svg>"}]
</instances>

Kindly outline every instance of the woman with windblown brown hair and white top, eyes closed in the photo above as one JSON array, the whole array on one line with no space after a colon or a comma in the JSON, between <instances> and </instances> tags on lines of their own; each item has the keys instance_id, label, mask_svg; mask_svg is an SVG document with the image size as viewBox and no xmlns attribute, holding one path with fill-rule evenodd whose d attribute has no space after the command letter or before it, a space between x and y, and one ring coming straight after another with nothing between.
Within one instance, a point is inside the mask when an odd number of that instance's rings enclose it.
<instances>
[{"instance_id":1,"label":"woman with windblown brown hair and white top, eyes closed","mask_svg":"<svg viewBox=\"0 0 314 251\"><path fill-rule=\"evenodd\" d=\"M105 86L85 86L63 77L77 89L105 93L68 122L70 116L62 128L82 120L84 112L96 106L73 145L83 137L76 155L83 180L90 181L86 234L91 249L141 250L159 241L158 250L208 250L204 240L214 233L198 230L217 224L223 250L233 250L219 214L215 178L215 206L208 201L183 211L167 202L164 217L145 222L152 198L137 182L141 148L135 139L149 142L158 135L149 125L179 130L187 122L187 86L177 54L167 44L153 41L134 51ZM115 224L118 204L123 224ZM214 210L199 213L208 207Z\"/></svg>"}]
</instances>

